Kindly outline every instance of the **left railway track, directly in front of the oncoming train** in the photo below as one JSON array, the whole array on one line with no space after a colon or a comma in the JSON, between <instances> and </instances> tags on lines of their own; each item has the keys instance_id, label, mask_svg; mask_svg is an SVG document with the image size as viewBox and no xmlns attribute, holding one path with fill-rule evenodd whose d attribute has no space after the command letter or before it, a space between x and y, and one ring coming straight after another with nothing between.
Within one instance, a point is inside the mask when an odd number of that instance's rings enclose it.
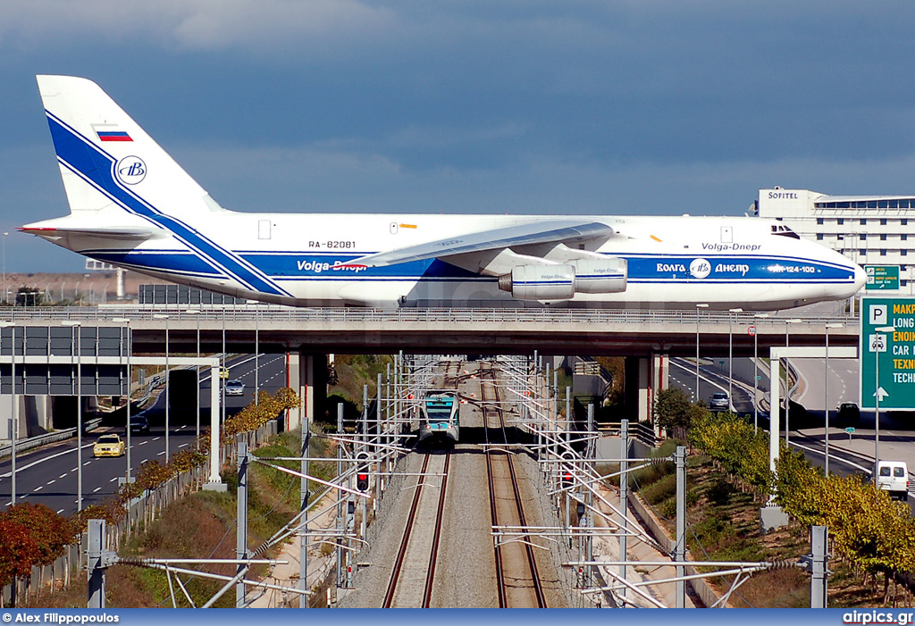
<instances>
[{"instance_id":1,"label":"left railway track, directly in front of the oncoming train","mask_svg":"<svg viewBox=\"0 0 915 626\"><path fill-rule=\"evenodd\" d=\"M425 454L423 469L414 486L404 538L394 560L387 593L384 594L384 609L428 609L431 606L450 464L451 453L448 451ZM425 520L425 524L417 525L417 519ZM428 521L432 519L435 524L430 526Z\"/></svg>"}]
</instances>

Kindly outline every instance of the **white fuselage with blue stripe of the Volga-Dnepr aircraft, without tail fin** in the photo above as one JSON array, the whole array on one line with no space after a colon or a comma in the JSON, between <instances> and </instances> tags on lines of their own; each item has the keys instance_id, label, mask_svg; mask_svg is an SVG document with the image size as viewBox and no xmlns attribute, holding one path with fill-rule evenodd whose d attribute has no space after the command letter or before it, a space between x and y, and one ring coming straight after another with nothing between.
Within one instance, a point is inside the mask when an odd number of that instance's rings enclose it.
<instances>
[{"instance_id":1,"label":"white fuselage with blue stripe of the Volga-Dnepr aircraft, without tail fin","mask_svg":"<svg viewBox=\"0 0 915 626\"><path fill-rule=\"evenodd\" d=\"M297 306L552 306L780 309L837 300L860 289L863 271L811 241L772 232L759 218L595 217L618 235L585 247L625 259L626 289L576 293L568 301L524 302L497 279L441 260L390 267L340 267L381 250L401 249L479 230L529 224L546 216L246 214L220 211L188 233L131 242L69 235L59 243L87 256L170 281ZM205 238L208 248L194 239ZM224 250L230 265L213 259Z\"/></svg>"}]
</instances>

